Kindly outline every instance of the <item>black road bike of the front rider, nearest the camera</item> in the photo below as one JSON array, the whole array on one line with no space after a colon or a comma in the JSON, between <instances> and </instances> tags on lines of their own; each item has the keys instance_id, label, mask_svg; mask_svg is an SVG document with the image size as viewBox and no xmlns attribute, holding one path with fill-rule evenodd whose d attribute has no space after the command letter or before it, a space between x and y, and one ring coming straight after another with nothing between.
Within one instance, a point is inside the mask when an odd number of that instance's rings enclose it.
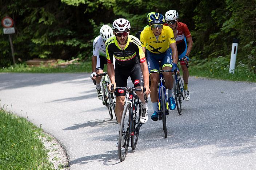
<instances>
[{"instance_id":1,"label":"black road bike of the front rider, nearest the camera","mask_svg":"<svg viewBox=\"0 0 256 170\"><path fill-rule=\"evenodd\" d=\"M136 148L139 138L140 127L143 125L142 123L140 123L140 116L142 113L141 101L139 97L134 93L141 92L142 90L133 87L116 87L116 89L126 91L124 111L119 129L118 144L119 159L122 162L124 161L128 152L130 137L132 150L134 150ZM143 88L145 102L148 102L145 91L146 89Z\"/></svg>"}]
</instances>

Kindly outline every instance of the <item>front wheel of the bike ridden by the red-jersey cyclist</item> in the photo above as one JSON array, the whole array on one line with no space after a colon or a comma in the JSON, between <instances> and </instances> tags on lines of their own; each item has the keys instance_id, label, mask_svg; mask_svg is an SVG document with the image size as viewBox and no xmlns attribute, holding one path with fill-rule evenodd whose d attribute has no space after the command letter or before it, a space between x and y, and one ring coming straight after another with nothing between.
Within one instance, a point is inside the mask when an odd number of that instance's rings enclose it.
<instances>
[{"instance_id":1,"label":"front wheel of the bike ridden by the red-jersey cyclist","mask_svg":"<svg viewBox=\"0 0 256 170\"><path fill-rule=\"evenodd\" d=\"M174 75L176 77L176 75ZM178 110L179 115L181 115L182 111L182 91L181 91L181 85L180 85L180 75L177 75L177 78L174 79L174 95L175 95L175 103Z\"/></svg>"}]
</instances>

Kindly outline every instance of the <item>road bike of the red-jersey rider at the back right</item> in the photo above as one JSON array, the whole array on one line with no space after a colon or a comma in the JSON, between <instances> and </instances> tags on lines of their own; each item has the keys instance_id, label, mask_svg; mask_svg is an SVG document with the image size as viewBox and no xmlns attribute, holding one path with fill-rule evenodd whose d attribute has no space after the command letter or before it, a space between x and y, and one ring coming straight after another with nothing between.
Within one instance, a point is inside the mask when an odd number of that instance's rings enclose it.
<instances>
[{"instance_id":1,"label":"road bike of the red-jersey rider at the back right","mask_svg":"<svg viewBox=\"0 0 256 170\"><path fill-rule=\"evenodd\" d=\"M185 61L186 67L189 68L188 66L188 61L185 60L185 57L183 59L179 59L178 61ZM176 102L176 107L178 110L179 115L181 115L181 111L182 111L182 99L184 100L184 85L183 85L183 81L180 77L180 74L177 73L177 69L175 69L174 71L174 75L173 75L173 93L175 95L175 102Z\"/></svg>"}]
</instances>

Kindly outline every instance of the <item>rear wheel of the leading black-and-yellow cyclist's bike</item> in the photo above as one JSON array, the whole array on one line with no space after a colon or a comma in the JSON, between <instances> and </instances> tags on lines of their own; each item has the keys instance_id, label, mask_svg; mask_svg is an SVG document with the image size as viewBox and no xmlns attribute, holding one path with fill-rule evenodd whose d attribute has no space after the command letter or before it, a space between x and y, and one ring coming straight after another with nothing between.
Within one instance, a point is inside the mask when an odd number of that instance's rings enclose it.
<instances>
[{"instance_id":1,"label":"rear wheel of the leading black-and-yellow cyclist's bike","mask_svg":"<svg viewBox=\"0 0 256 170\"><path fill-rule=\"evenodd\" d=\"M140 123L141 101L139 101L139 99L138 99L136 105L137 105L137 106L135 106L136 118L133 120L134 135L132 135L132 137L131 137L132 150L134 150L137 146L139 133L140 133L140 125L141 125L141 123Z\"/></svg>"}]
</instances>

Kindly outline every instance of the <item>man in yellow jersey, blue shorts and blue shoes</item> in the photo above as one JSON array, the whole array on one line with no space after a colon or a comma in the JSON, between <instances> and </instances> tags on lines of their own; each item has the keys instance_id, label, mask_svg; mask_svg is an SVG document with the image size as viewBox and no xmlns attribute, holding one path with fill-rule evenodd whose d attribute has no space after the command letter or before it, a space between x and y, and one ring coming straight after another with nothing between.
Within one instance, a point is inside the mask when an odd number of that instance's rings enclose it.
<instances>
[{"instance_id":1,"label":"man in yellow jersey, blue shorts and blue shoes","mask_svg":"<svg viewBox=\"0 0 256 170\"><path fill-rule=\"evenodd\" d=\"M172 71L174 71L175 68L177 68L178 52L172 29L168 26L163 26L164 16L160 13L151 14L151 16L149 16L149 24L150 27L144 29L140 34L140 41L144 52L146 52L147 44L147 61L149 72L159 70L159 61L161 61L161 67L163 68L163 70L172 69ZM176 108L176 104L172 96L172 72L164 72L163 75L165 77L165 85L168 90L169 108L171 110L174 110ZM151 119L153 121L157 121L157 86L159 82L159 75L157 73L151 73L150 78L150 98L154 111Z\"/></svg>"}]
</instances>

